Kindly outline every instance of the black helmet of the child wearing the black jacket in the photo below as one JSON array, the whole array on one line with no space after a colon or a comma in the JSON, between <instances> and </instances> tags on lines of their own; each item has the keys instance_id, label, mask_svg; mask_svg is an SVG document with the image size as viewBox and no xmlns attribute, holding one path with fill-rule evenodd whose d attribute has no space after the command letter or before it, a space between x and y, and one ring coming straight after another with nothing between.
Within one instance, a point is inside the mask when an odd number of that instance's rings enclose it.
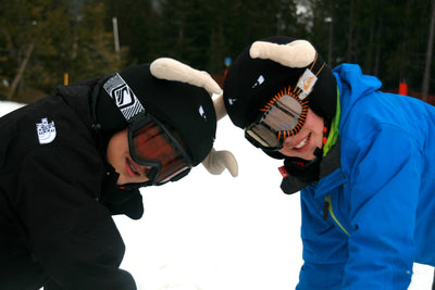
<instances>
[{"instance_id":1,"label":"black helmet of the child wearing the black jacket","mask_svg":"<svg viewBox=\"0 0 435 290\"><path fill-rule=\"evenodd\" d=\"M207 90L181 81L156 78L150 73L149 64L130 66L119 75L147 113L179 133L192 165L202 162L213 147L216 131L216 114ZM112 76L104 77L99 88L96 88L96 119L105 135L113 135L128 126L115 104L116 98L109 96L102 88Z\"/></svg>"}]
</instances>

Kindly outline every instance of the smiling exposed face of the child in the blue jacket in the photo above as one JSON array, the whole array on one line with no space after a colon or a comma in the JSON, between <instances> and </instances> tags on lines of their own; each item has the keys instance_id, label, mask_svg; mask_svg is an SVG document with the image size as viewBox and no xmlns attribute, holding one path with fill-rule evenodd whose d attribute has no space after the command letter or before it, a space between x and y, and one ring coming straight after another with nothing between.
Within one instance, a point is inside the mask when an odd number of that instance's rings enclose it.
<instances>
[{"instance_id":1,"label":"smiling exposed face of the child in the blue jacket","mask_svg":"<svg viewBox=\"0 0 435 290\"><path fill-rule=\"evenodd\" d=\"M315 159L315 148L322 149L323 146L323 118L308 110L307 119L298 134L287 137L284 140L279 153L303 160Z\"/></svg>"}]
</instances>

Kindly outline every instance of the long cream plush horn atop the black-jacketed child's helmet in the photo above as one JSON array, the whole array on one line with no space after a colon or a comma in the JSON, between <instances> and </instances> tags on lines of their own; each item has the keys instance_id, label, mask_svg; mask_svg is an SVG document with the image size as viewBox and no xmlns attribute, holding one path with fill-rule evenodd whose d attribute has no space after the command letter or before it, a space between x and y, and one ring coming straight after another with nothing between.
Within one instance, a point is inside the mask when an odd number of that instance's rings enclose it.
<instances>
[{"instance_id":1,"label":"long cream plush horn atop the black-jacketed child's helmet","mask_svg":"<svg viewBox=\"0 0 435 290\"><path fill-rule=\"evenodd\" d=\"M222 91L217 83L207 72L195 70L170 58L157 59L151 63L150 71L151 75L157 78L187 83L204 88L210 96Z\"/></svg>"}]
</instances>

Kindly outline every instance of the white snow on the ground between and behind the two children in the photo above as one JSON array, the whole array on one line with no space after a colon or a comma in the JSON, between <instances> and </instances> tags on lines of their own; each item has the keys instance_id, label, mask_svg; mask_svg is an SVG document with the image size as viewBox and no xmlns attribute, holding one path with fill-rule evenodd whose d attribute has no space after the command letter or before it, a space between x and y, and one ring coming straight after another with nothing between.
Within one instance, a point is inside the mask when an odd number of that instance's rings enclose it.
<instances>
[{"instance_id":1,"label":"white snow on the ground between and behind the two children","mask_svg":"<svg viewBox=\"0 0 435 290\"><path fill-rule=\"evenodd\" d=\"M0 102L0 115L18 108ZM299 196L279 190L278 161L249 146L225 117L215 148L231 149L239 176L199 165L184 179L142 189L140 220L116 216L126 254L121 267L139 290L288 290L301 260ZM414 265L409 289L428 290L433 268Z\"/></svg>"}]
</instances>

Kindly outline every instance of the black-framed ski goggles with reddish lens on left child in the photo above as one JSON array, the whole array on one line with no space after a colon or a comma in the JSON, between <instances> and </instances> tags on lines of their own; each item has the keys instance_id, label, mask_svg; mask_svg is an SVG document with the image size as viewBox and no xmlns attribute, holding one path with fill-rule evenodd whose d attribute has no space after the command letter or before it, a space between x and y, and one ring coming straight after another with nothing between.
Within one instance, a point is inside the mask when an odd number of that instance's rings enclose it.
<instances>
[{"instance_id":1,"label":"black-framed ski goggles with reddish lens on left child","mask_svg":"<svg viewBox=\"0 0 435 290\"><path fill-rule=\"evenodd\" d=\"M132 159L147 173L150 185L163 185L186 176L192 163L181 141L163 124L149 114L128 126Z\"/></svg>"}]
</instances>

